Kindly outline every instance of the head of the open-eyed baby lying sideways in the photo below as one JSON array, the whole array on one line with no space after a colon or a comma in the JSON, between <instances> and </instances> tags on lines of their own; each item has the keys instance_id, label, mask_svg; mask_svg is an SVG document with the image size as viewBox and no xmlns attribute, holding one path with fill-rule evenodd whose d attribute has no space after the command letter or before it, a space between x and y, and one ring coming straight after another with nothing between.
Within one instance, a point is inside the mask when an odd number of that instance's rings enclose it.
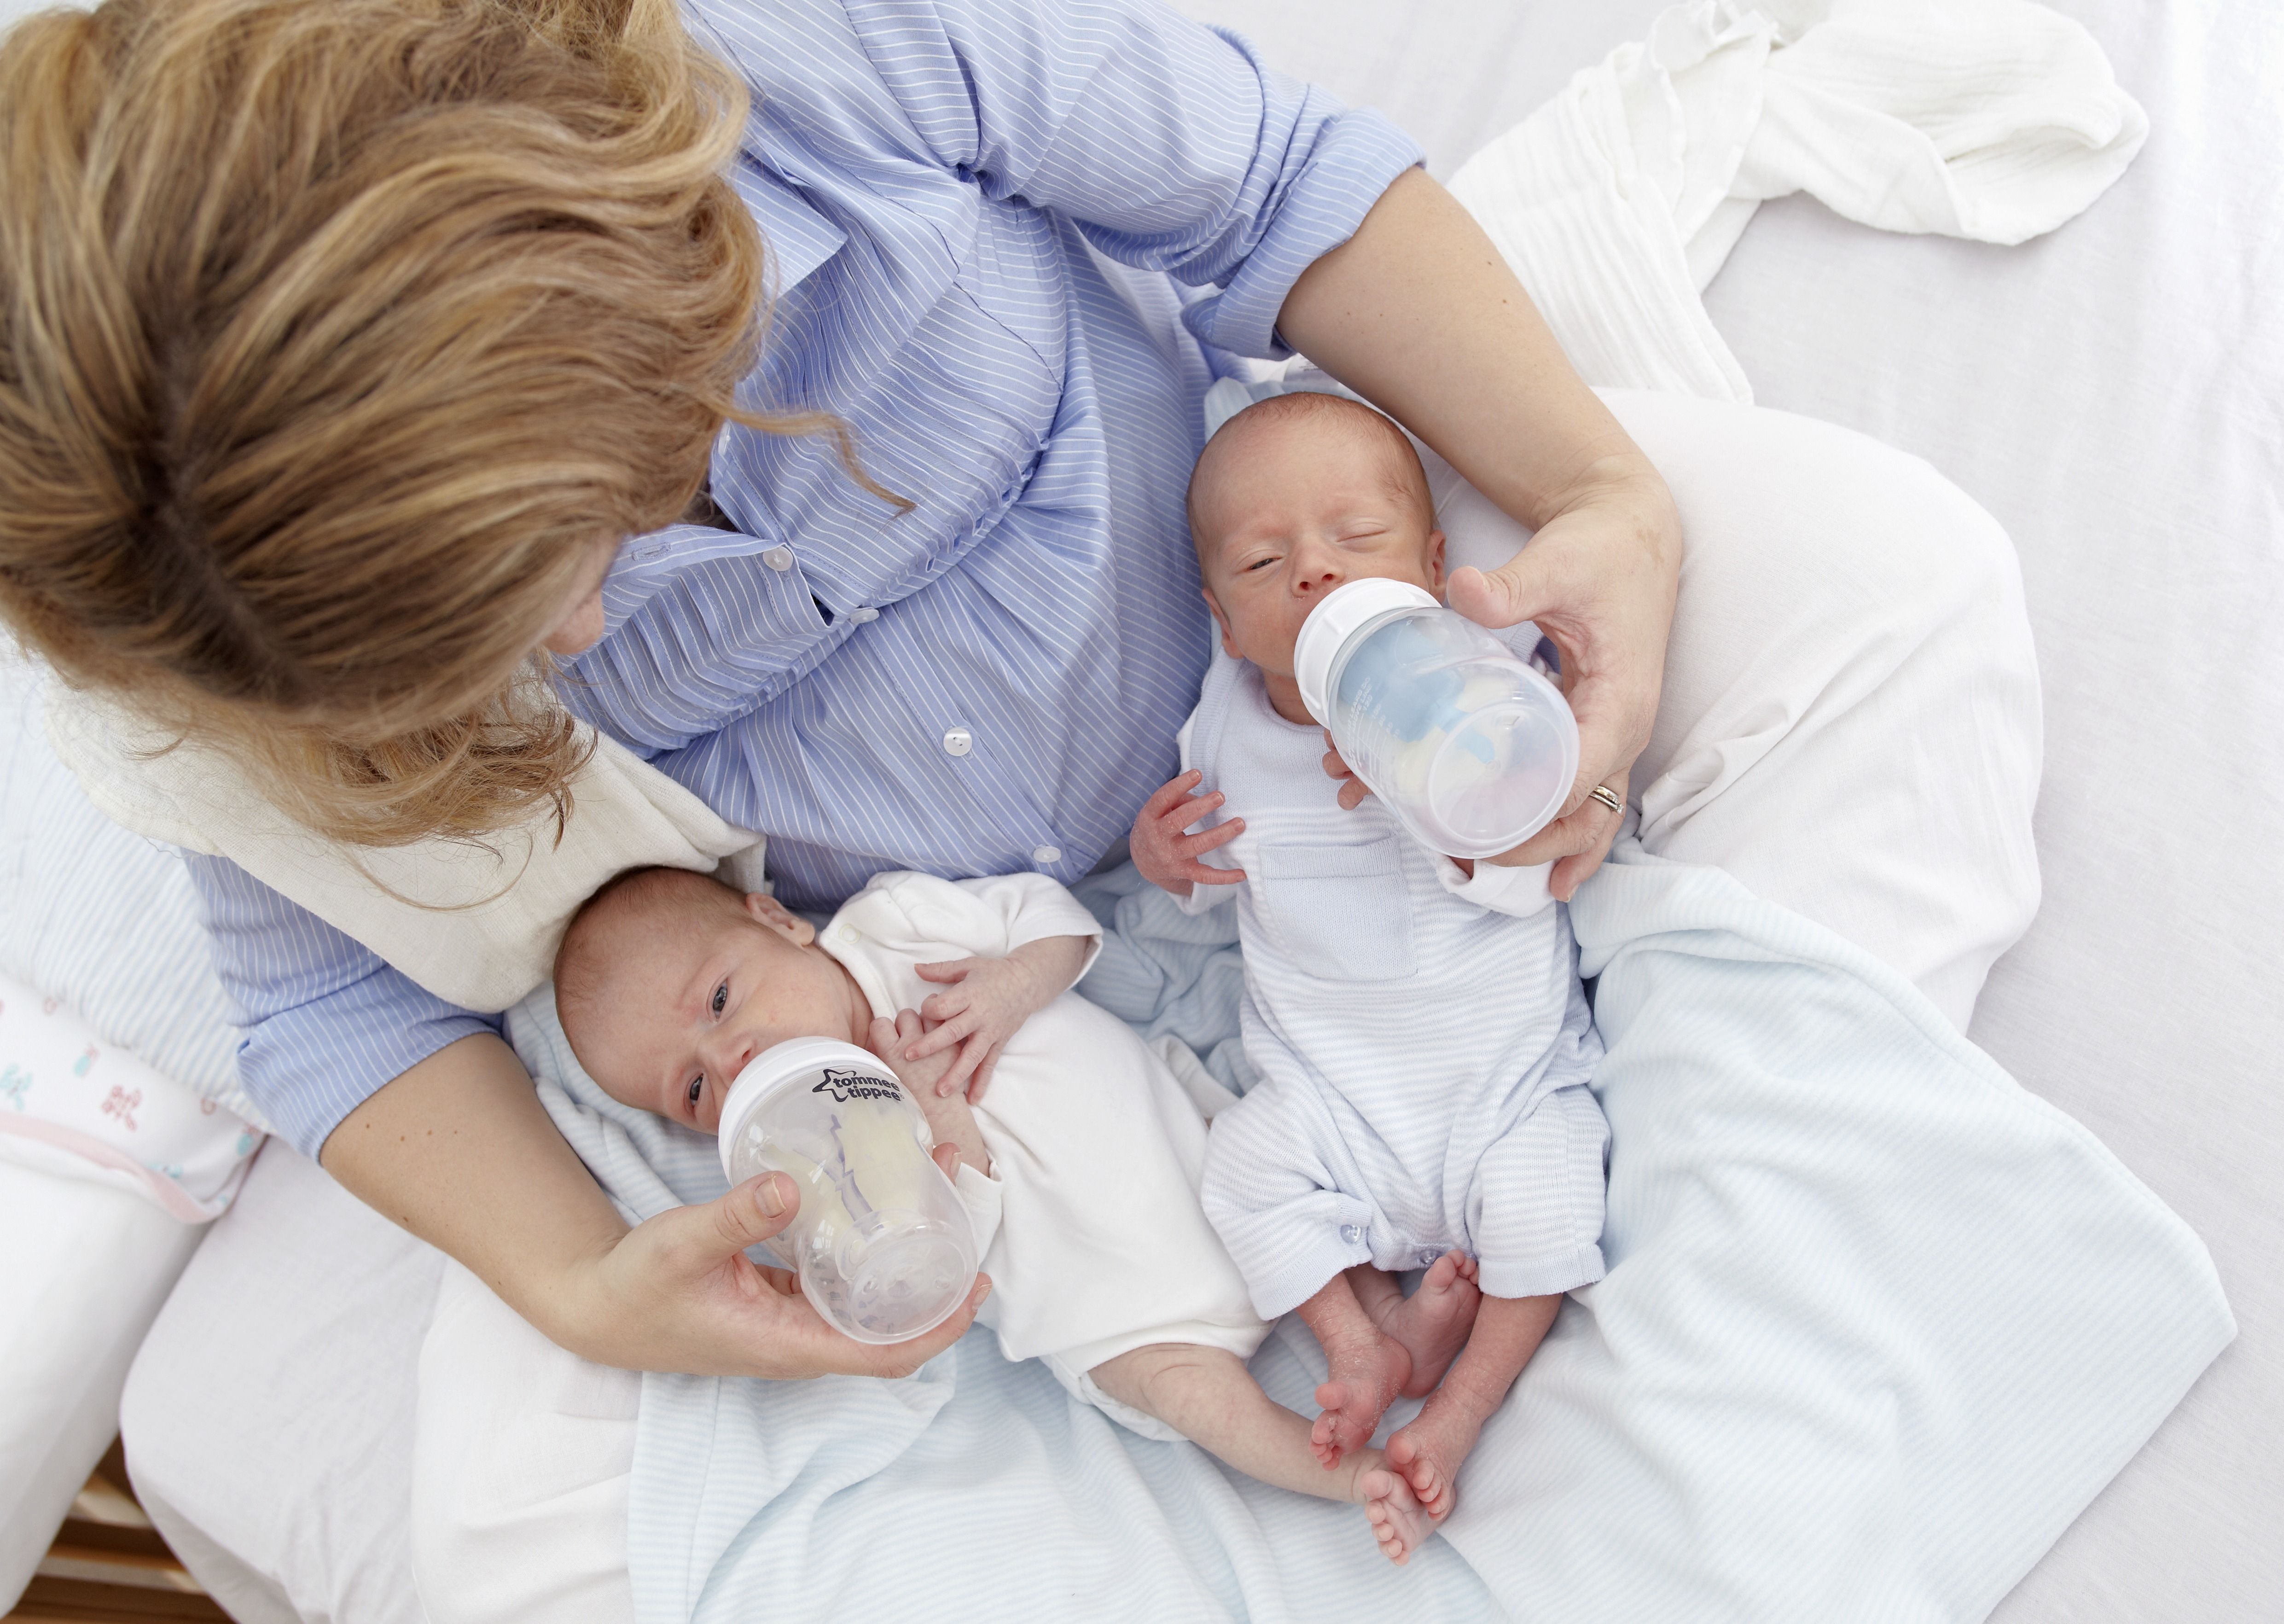
<instances>
[{"instance_id":1,"label":"head of the open-eyed baby lying sideways","mask_svg":"<svg viewBox=\"0 0 2284 1624\"><path fill-rule=\"evenodd\" d=\"M713 1133L747 1062L790 1037L863 1042L870 1010L806 918L687 868L587 898L555 952L571 1053L612 1099Z\"/></svg>"}]
</instances>

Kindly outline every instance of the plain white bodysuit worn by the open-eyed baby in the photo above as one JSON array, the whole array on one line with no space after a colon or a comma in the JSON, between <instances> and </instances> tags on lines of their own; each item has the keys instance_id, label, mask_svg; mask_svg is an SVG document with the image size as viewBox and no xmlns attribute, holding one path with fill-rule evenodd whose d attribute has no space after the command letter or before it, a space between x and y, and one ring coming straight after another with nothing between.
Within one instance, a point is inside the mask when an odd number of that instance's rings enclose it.
<instances>
[{"instance_id":1,"label":"plain white bodysuit worn by the open-eyed baby","mask_svg":"<svg viewBox=\"0 0 2284 1624\"><path fill-rule=\"evenodd\" d=\"M847 966L875 1012L893 1014L941 991L916 966L998 959L1046 936L1101 936L1078 898L1046 875L875 875L818 943ZM1176 1437L1108 1398L1087 1370L1149 1343L1249 1359L1268 1336L1199 1211L1206 1119L1197 1101L1167 1055L1064 991L1000 1048L975 1126L991 1151L991 1179L962 1167L959 1190L991 1277L978 1318L998 1332L1010 1359L1042 1359L1115 1421Z\"/></svg>"}]
</instances>

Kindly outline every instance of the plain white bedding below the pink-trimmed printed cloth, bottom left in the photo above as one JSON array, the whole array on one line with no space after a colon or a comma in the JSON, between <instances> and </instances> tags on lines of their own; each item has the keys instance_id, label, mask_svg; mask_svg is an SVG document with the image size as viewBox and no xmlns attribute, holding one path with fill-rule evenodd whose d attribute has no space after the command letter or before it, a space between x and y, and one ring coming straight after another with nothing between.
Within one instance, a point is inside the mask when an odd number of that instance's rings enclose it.
<instances>
[{"instance_id":1,"label":"plain white bedding below the pink-trimmed printed cloth, bottom left","mask_svg":"<svg viewBox=\"0 0 2284 1624\"><path fill-rule=\"evenodd\" d=\"M78 1176L0 1163L0 1610L119 1432L119 1389L203 1229Z\"/></svg>"}]
</instances>

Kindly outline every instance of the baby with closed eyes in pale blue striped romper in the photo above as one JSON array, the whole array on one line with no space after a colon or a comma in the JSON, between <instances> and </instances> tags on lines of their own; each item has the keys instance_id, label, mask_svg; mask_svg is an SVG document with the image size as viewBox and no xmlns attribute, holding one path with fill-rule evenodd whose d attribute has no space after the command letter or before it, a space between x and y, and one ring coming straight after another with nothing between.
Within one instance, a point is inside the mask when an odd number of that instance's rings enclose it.
<instances>
[{"instance_id":1,"label":"baby with closed eyes in pale blue striped romper","mask_svg":"<svg viewBox=\"0 0 2284 1624\"><path fill-rule=\"evenodd\" d=\"M1334 587L1441 594L1443 532L1405 434L1334 395L1249 407L1197 461L1190 532L1231 658L1133 857L1192 911L1238 902L1261 1080L1213 1119L1206 1215L1254 1309L1300 1309L1325 1345L1327 1466L1393 1398L1427 1398L1386 1460L1441 1521L1562 1293L1601 1279L1608 1124L1585 1087L1601 1042L1546 868L1427 852L1377 799L1341 811L1327 770L1343 763L1293 681L1300 624ZM1407 1300L1389 1270L1409 1268L1427 1275Z\"/></svg>"}]
</instances>

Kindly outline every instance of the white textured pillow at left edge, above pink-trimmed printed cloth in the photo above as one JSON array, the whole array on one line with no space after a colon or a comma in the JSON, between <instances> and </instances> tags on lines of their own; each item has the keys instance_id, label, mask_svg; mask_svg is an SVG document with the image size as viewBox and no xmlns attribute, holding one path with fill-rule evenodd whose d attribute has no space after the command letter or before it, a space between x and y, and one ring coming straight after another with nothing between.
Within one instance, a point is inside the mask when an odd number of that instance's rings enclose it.
<instances>
[{"instance_id":1,"label":"white textured pillow at left edge, above pink-trimmed printed cloth","mask_svg":"<svg viewBox=\"0 0 2284 1624\"><path fill-rule=\"evenodd\" d=\"M57 998L201 1099L267 1124L183 861L105 818L55 758L46 669L0 644L0 975Z\"/></svg>"}]
</instances>

